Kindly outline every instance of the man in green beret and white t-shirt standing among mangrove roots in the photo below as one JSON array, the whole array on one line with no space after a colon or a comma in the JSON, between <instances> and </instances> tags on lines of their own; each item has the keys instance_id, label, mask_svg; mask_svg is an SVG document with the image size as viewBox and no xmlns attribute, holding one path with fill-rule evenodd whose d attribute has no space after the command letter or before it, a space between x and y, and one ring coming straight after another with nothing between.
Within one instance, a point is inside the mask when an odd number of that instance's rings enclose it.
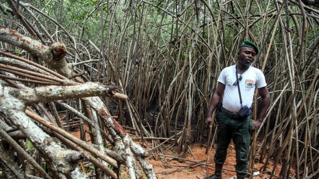
<instances>
[{"instance_id":1,"label":"man in green beret and white t-shirt standing among mangrove roots","mask_svg":"<svg viewBox=\"0 0 319 179\"><path fill-rule=\"evenodd\" d=\"M224 68L219 75L217 89L211 98L205 120L205 126L210 126L211 115L224 93L222 107L216 114L218 128L217 149L214 157L215 174L204 179L222 178L221 171L231 139L235 144L237 179L243 179L247 175L250 132L259 128L270 103L265 76L260 69L250 66L258 52L259 49L255 43L245 40L238 51L238 63ZM241 112L238 112L243 106L251 107L256 88L262 98L257 119L251 120L249 112L246 112L245 117L240 117Z\"/></svg>"}]
</instances>

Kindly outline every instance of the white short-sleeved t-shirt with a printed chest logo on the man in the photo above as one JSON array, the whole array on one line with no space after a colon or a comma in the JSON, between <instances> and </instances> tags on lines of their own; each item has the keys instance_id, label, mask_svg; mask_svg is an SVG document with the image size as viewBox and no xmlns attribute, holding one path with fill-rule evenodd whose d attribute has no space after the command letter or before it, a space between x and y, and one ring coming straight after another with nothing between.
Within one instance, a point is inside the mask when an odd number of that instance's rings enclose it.
<instances>
[{"instance_id":1,"label":"white short-sleeved t-shirt with a printed chest logo on the man","mask_svg":"<svg viewBox=\"0 0 319 179\"><path fill-rule=\"evenodd\" d=\"M236 82L236 65L224 68L219 77L218 82L225 84L225 91L223 97L223 107L232 112L238 112L241 109L238 87L234 86ZM241 92L242 105L247 105L249 108L253 102L255 89L265 87L266 80L263 72L255 67L249 68L241 75L242 79L239 81ZM238 79L240 74L238 74Z\"/></svg>"}]
</instances>

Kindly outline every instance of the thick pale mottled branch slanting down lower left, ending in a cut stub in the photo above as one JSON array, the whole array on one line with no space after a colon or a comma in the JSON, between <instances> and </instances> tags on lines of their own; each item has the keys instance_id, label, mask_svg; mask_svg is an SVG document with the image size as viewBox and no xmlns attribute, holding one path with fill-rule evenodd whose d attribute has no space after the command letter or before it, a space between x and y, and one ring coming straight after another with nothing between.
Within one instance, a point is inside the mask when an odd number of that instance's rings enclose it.
<instances>
[{"instance_id":1,"label":"thick pale mottled branch slanting down lower left, ending in a cut stub","mask_svg":"<svg viewBox=\"0 0 319 179\"><path fill-rule=\"evenodd\" d=\"M33 121L26 116L24 110L26 104L10 95L9 87L0 86L0 112L9 119L13 125L20 129L32 144L49 159L48 163L56 166L59 173L67 174L73 171L77 165L66 161L67 155L78 155L78 152L64 149L61 144L48 134L43 132Z\"/></svg>"}]
</instances>

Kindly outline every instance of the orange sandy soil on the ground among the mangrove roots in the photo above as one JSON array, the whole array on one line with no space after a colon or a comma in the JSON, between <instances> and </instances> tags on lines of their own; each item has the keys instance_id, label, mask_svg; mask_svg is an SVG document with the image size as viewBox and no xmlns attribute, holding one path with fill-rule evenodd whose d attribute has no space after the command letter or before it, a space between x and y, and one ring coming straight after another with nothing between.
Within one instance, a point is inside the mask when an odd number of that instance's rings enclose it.
<instances>
[{"instance_id":1,"label":"orange sandy soil on the ground among the mangrove roots","mask_svg":"<svg viewBox=\"0 0 319 179\"><path fill-rule=\"evenodd\" d=\"M88 131L88 127L85 126L85 130ZM77 136L78 138L80 138L80 130L77 129L77 132L71 132L73 135ZM134 137L133 135L131 137ZM91 141L89 140L90 136L88 133L86 133L86 140L87 141ZM137 144L140 144L140 141L135 141ZM146 144L146 146L150 146L148 145L148 143ZM232 169L235 170L235 164L236 164L236 158L235 158L235 150L234 150L234 144L230 144L227 150L227 158L226 158L226 162L224 164L223 168L227 168L227 169ZM192 153L195 157L195 159L193 158L192 155L187 154L186 155L186 159L189 159L191 161L201 161L204 160L204 163L206 163L208 154L205 154L206 151L206 147L201 147L198 144L194 144L193 146L190 146ZM146 150L149 149L148 147L146 148ZM213 149L211 150L211 154L210 154L210 165L215 165L214 161L213 161L213 156L215 155L215 149L216 146L213 147ZM172 148L171 151L176 150L176 148ZM173 151L174 152L174 151ZM171 153L168 153L166 155L172 155ZM178 156L177 153L175 153L175 156ZM157 177L159 179L184 179L184 178L188 178L188 179L202 179L204 177L206 177L206 173L204 173L204 171L207 169L206 166L200 166L200 167L196 167L196 168L191 168L188 170L182 170L179 172L174 172L172 174L168 174L168 175L162 175L159 173L163 173L163 172L170 172L170 171L174 171L177 169L181 169L183 167L181 166L189 166L190 164L192 164L192 162L188 162L188 161L181 161L181 160L176 160L176 159L172 159L172 158L168 158L165 157L166 161L164 159L164 157L160 157L158 156L158 160L154 160L151 159L150 157L147 158L147 161L149 163L151 163L154 167L154 172L157 175ZM255 163L254 165L254 172L258 171L261 167L263 166L263 163ZM139 166L140 167L140 166ZM267 170L271 172L273 168L273 161L270 161ZM277 166L276 172L275 172L275 176L279 175L279 171L281 169L281 165ZM127 173L127 168L124 168L121 173L122 175L120 176L120 179L128 179L128 173ZM208 174L211 175L213 172L215 171L214 168L209 167L208 168ZM223 170L222 172L222 176L224 179L228 179L231 178L232 176L236 175L235 172L232 171L226 171ZM292 170L292 173L290 175L294 175L294 170ZM258 176L254 176L254 179L267 179L269 178L269 175L266 172L260 173Z\"/></svg>"}]
</instances>

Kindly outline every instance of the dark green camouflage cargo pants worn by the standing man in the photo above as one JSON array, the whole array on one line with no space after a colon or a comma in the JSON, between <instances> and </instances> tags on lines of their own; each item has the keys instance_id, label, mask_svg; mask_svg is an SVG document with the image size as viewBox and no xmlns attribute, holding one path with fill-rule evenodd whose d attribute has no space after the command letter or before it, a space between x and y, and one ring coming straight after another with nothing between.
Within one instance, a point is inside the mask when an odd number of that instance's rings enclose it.
<instances>
[{"instance_id":1,"label":"dark green camouflage cargo pants worn by the standing man","mask_svg":"<svg viewBox=\"0 0 319 179\"><path fill-rule=\"evenodd\" d=\"M233 139L236 151L235 170L238 177L245 178L247 175L249 152L250 131L252 130L252 121L250 117L245 119L233 119L225 116L221 112L216 114L217 119L217 149L214 157L216 164L223 165L228 145Z\"/></svg>"}]
</instances>

